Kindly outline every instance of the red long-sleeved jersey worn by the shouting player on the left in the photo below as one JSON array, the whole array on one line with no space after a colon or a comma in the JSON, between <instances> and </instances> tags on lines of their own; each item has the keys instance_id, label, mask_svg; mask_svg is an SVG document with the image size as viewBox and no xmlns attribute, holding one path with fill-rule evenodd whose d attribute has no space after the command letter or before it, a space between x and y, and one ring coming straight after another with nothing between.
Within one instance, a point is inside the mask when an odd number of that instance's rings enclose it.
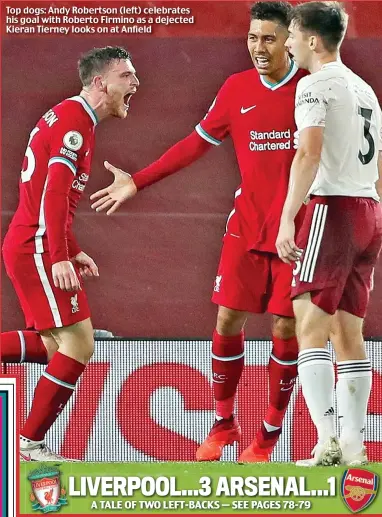
<instances>
[{"instance_id":1,"label":"red long-sleeved jersey worn by the shouting player on the left","mask_svg":"<svg viewBox=\"0 0 382 517\"><path fill-rule=\"evenodd\" d=\"M49 252L52 263L81 251L71 226L90 175L96 124L96 114L80 96L64 100L41 117L29 137L19 206L4 249Z\"/></svg>"}]
</instances>

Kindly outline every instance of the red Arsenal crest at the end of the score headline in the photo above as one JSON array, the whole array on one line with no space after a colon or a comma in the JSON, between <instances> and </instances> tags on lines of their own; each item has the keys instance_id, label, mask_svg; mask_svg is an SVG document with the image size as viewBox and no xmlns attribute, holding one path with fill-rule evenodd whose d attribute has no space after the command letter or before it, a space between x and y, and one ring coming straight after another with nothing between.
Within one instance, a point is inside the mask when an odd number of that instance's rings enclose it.
<instances>
[{"instance_id":1,"label":"red Arsenal crest at the end of the score headline","mask_svg":"<svg viewBox=\"0 0 382 517\"><path fill-rule=\"evenodd\" d=\"M379 477L364 469L347 469L341 482L341 495L346 506L358 513L369 506L378 492Z\"/></svg>"}]
</instances>

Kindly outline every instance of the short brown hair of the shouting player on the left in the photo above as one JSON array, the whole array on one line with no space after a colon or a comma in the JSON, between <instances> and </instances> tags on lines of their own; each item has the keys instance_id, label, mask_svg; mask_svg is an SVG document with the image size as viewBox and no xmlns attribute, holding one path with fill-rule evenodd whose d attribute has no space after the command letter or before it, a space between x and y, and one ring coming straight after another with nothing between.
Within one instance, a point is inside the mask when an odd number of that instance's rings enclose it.
<instances>
[{"instance_id":1,"label":"short brown hair of the shouting player on the left","mask_svg":"<svg viewBox=\"0 0 382 517\"><path fill-rule=\"evenodd\" d=\"M112 61L131 59L130 53L122 47L93 48L78 60L78 73L83 86L89 86L94 76L101 74Z\"/></svg>"}]
</instances>

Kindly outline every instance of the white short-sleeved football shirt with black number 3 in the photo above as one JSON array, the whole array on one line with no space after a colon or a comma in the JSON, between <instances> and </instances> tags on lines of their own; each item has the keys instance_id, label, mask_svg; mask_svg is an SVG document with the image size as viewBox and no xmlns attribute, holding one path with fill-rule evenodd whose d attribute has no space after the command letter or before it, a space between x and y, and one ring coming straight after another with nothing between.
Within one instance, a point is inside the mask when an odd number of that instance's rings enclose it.
<instances>
[{"instance_id":1,"label":"white short-sleeved football shirt with black number 3","mask_svg":"<svg viewBox=\"0 0 382 517\"><path fill-rule=\"evenodd\" d=\"M309 194L379 200L378 151L382 150L381 109L371 86L340 61L300 79L296 125L324 127L317 176Z\"/></svg>"}]
</instances>

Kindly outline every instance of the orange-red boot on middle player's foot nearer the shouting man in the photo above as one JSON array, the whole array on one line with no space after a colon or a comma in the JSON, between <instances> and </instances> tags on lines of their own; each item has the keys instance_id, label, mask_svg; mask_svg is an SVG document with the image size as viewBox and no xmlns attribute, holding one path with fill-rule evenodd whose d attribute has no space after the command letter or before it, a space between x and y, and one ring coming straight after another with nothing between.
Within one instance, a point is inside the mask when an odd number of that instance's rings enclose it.
<instances>
[{"instance_id":1,"label":"orange-red boot on middle player's foot nearer the shouting man","mask_svg":"<svg viewBox=\"0 0 382 517\"><path fill-rule=\"evenodd\" d=\"M241 428L237 418L216 420L209 435L196 451L196 461L220 460L226 445L233 445L241 439Z\"/></svg>"}]
</instances>

